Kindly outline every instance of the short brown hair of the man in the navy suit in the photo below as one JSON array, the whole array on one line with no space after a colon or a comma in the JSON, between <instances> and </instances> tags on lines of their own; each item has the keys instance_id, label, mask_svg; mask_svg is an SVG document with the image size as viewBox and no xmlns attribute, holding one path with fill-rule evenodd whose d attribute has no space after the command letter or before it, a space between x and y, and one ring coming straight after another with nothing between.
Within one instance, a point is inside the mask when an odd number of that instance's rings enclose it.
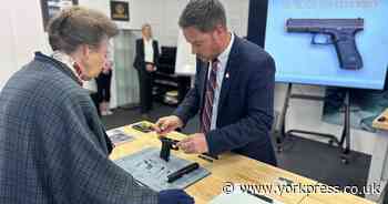
<instances>
[{"instance_id":1,"label":"short brown hair of the man in the navy suit","mask_svg":"<svg viewBox=\"0 0 388 204\"><path fill-rule=\"evenodd\" d=\"M194 27L208 32L217 24L226 28L224 6L218 0L191 0L183 10L178 24L182 29Z\"/></svg>"}]
</instances>

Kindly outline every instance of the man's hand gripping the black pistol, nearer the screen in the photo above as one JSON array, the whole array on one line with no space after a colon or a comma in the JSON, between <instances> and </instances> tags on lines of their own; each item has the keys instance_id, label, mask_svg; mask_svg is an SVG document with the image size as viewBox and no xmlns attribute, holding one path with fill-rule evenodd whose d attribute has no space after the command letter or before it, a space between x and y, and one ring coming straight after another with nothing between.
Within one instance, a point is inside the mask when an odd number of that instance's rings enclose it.
<instances>
[{"instance_id":1,"label":"man's hand gripping the black pistol, nearer the screen","mask_svg":"<svg viewBox=\"0 0 388 204\"><path fill-rule=\"evenodd\" d=\"M206 136L203 133L188 135L187 139L178 142L177 146L186 154L202 154L208 152Z\"/></svg>"}]
</instances>

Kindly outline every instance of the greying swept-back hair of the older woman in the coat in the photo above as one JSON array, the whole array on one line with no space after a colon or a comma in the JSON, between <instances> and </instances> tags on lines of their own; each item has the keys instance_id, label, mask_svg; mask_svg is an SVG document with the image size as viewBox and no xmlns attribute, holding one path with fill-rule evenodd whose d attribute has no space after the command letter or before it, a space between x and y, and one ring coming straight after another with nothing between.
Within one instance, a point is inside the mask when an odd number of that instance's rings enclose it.
<instances>
[{"instance_id":1,"label":"greying swept-back hair of the older woman in the coat","mask_svg":"<svg viewBox=\"0 0 388 204\"><path fill-rule=\"evenodd\" d=\"M52 18L48 24L52 50L71 53L81 44L99 48L105 38L119 33L119 29L105 14L82 7L71 7Z\"/></svg>"}]
</instances>

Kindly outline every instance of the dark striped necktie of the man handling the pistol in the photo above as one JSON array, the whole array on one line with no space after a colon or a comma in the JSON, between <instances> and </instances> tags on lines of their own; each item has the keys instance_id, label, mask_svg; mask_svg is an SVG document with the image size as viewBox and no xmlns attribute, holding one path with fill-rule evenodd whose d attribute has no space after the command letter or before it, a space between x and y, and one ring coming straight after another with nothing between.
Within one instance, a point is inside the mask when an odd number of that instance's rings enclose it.
<instances>
[{"instance_id":1,"label":"dark striped necktie of the man handling the pistol","mask_svg":"<svg viewBox=\"0 0 388 204\"><path fill-rule=\"evenodd\" d=\"M218 64L219 64L219 61L217 59L213 60L211 75L206 83L205 105L201 115L201 132L204 134L206 134L211 130L214 91L217 86L216 79L217 79Z\"/></svg>"}]
</instances>

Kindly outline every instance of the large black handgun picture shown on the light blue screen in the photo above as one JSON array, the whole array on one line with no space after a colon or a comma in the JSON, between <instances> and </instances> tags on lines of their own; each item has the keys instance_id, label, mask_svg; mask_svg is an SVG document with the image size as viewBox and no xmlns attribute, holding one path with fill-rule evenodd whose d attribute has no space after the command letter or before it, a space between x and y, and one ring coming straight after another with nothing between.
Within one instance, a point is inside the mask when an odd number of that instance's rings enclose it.
<instances>
[{"instance_id":1,"label":"large black handgun picture shown on the light blue screen","mask_svg":"<svg viewBox=\"0 0 388 204\"><path fill-rule=\"evenodd\" d=\"M347 70L363 68L363 59L356 47L355 35L364 30L364 19L287 19L287 32L309 32L312 44L335 44L339 65ZM317 34L328 34L330 40L317 42Z\"/></svg>"}]
</instances>

